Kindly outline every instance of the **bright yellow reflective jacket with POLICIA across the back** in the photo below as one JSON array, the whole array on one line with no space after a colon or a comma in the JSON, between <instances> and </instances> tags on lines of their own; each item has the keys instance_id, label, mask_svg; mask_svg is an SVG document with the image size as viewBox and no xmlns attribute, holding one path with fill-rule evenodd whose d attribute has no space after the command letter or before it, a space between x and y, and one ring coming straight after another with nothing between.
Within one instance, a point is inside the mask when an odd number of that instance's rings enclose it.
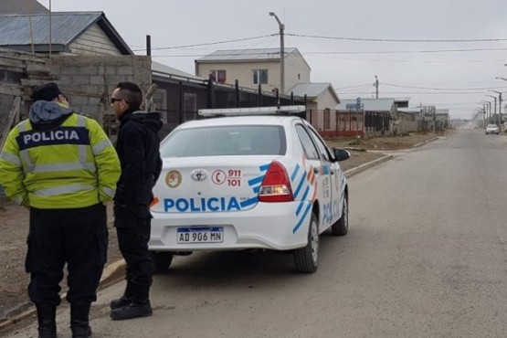
<instances>
[{"instance_id":1,"label":"bright yellow reflective jacket with POLICIA across the back","mask_svg":"<svg viewBox=\"0 0 507 338\"><path fill-rule=\"evenodd\" d=\"M19 205L75 208L114 197L121 166L106 133L93 119L72 113L50 131L29 120L9 132L0 154L0 185Z\"/></svg>"}]
</instances>

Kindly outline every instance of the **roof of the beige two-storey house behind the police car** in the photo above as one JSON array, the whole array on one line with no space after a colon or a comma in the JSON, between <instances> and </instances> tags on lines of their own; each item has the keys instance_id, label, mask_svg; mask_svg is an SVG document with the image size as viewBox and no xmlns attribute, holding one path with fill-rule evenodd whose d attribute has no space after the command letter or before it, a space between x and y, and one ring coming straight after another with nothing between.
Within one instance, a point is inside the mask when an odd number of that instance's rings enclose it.
<instances>
[{"instance_id":1,"label":"roof of the beige two-storey house behind the police car","mask_svg":"<svg viewBox=\"0 0 507 338\"><path fill-rule=\"evenodd\" d=\"M285 48L285 54L297 52L298 48ZM280 59L280 48L225 49L216 50L197 61L233 61L233 60L267 60Z\"/></svg>"}]
</instances>

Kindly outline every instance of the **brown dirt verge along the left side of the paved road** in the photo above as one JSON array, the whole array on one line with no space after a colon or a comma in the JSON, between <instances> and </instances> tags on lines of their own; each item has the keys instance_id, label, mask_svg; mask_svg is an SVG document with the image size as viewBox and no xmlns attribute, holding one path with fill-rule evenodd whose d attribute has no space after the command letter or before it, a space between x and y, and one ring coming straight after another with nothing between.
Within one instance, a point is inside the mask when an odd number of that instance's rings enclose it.
<instances>
[{"instance_id":1,"label":"brown dirt verge along the left side of the paved road","mask_svg":"<svg viewBox=\"0 0 507 338\"><path fill-rule=\"evenodd\" d=\"M409 149L418 143L434 139L433 133L413 133L396 137L375 137L368 139L327 140L332 147L341 147L351 152L351 158L342 162L343 171L356 167L385 155L383 152ZM108 263L121 259L116 241L116 231L112 227L111 206L108 210L110 223L110 246ZM26 236L28 232L28 212L0 197L0 322L9 314L29 305L26 295L28 274L25 272ZM65 280L62 281L65 290Z\"/></svg>"}]
</instances>

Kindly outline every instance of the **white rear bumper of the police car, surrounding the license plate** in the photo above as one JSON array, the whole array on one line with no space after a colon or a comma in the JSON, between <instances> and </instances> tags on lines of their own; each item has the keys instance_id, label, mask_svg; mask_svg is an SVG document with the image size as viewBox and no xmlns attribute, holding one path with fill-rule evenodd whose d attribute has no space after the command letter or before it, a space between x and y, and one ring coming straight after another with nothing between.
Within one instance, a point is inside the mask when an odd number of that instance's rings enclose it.
<instances>
[{"instance_id":1,"label":"white rear bumper of the police car, surrounding the license plate","mask_svg":"<svg viewBox=\"0 0 507 338\"><path fill-rule=\"evenodd\" d=\"M148 243L152 251L228 250L304 247L312 204L305 202L258 203L236 212L158 213L152 211ZM178 227L223 227L221 243L177 243Z\"/></svg>"}]
</instances>

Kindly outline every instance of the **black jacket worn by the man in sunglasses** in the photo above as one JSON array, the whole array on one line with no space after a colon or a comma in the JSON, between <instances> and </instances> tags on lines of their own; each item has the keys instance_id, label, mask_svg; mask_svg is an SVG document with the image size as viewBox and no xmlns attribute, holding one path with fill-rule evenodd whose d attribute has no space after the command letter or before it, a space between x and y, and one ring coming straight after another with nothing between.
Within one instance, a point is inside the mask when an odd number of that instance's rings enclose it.
<instances>
[{"instance_id":1,"label":"black jacket worn by the man in sunglasses","mask_svg":"<svg viewBox=\"0 0 507 338\"><path fill-rule=\"evenodd\" d=\"M116 151L120 157L121 177L114 201L123 206L149 205L153 185L162 170L158 132L160 113L125 112L120 117Z\"/></svg>"}]
</instances>

